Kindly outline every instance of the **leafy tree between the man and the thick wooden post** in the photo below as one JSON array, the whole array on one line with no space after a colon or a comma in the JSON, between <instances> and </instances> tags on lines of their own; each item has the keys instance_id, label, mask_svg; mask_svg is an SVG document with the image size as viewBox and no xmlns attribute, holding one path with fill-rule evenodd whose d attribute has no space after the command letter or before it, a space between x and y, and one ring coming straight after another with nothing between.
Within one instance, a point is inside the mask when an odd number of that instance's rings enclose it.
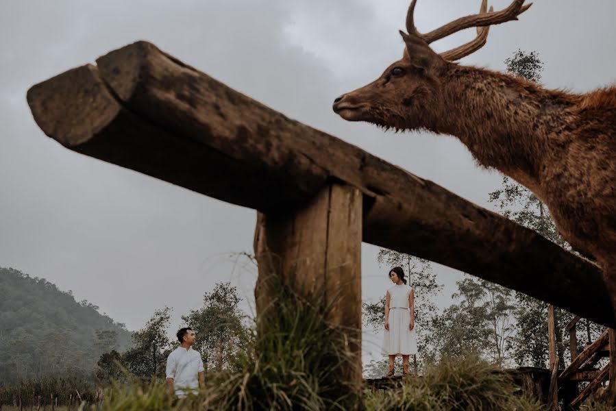
<instances>
[{"instance_id":1,"label":"leafy tree between the man and the thick wooden post","mask_svg":"<svg viewBox=\"0 0 616 411\"><path fill-rule=\"evenodd\" d=\"M238 348L249 338L249 330L244 325L247 316L238 307L240 301L237 288L221 282L212 292L206 292L202 308L182 316L195 331L197 342L193 348L201 353L206 371L227 368Z\"/></svg>"}]
</instances>

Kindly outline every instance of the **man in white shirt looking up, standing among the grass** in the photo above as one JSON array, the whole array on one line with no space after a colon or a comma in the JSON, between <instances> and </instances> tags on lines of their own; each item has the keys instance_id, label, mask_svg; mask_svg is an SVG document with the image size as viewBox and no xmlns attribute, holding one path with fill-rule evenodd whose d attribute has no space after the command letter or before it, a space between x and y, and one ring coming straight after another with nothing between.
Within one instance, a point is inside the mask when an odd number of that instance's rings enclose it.
<instances>
[{"instance_id":1,"label":"man in white shirt looking up, standing among the grass","mask_svg":"<svg viewBox=\"0 0 616 411\"><path fill-rule=\"evenodd\" d=\"M193 329L180 328L176 335L180 347L167 358L167 388L171 397L175 393L182 398L186 393L197 394L199 386L205 386L204 362L201 354L192 348L196 340Z\"/></svg>"}]
</instances>

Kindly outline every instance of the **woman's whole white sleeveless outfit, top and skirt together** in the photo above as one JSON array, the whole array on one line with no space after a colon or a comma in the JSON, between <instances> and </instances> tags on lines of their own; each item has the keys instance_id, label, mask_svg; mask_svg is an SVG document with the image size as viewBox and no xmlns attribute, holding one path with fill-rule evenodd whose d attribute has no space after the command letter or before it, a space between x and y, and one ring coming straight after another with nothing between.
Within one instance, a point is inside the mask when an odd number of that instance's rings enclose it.
<instances>
[{"instance_id":1,"label":"woman's whole white sleeveless outfit, top and skirt together","mask_svg":"<svg viewBox=\"0 0 616 411\"><path fill-rule=\"evenodd\" d=\"M417 353L415 327L408 329L410 310L408 295L412 288L406 284L395 285L389 292L389 331L384 330L382 354L385 356L408 356Z\"/></svg>"}]
</instances>

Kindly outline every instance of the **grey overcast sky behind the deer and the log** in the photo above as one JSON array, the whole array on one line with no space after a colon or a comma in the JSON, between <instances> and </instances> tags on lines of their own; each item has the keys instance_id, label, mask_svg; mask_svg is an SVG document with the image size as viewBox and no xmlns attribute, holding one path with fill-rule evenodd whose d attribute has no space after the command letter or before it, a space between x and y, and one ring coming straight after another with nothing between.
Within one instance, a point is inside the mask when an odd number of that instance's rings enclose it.
<instances>
[{"instance_id":1,"label":"grey overcast sky behind the deer and the log","mask_svg":"<svg viewBox=\"0 0 616 411\"><path fill-rule=\"evenodd\" d=\"M500 175L478 169L454 138L386 133L347 123L332 101L402 55L407 0L10 1L0 14L0 266L45 277L129 329L153 310L180 315L231 281L251 301L255 273L230 253L251 252L255 212L62 148L36 126L27 89L135 40L195 66L287 116L430 179L481 206ZM429 31L474 13L479 0L420 0ZM492 0L495 9L508 0ZM463 64L503 70L518 48L537 51L543 84L584 92L616 81L616 1L539 0L491 29ZM462 44L474 30L434 43ZM362 247L366 300L384 294L378 248ZM460 274L437 266L449 303ZM421 303L418 301L417 303ZM376 338L378 340L378 337ZM368 354L371 347L365 347Z\"/></svg>"}]
</instances>

